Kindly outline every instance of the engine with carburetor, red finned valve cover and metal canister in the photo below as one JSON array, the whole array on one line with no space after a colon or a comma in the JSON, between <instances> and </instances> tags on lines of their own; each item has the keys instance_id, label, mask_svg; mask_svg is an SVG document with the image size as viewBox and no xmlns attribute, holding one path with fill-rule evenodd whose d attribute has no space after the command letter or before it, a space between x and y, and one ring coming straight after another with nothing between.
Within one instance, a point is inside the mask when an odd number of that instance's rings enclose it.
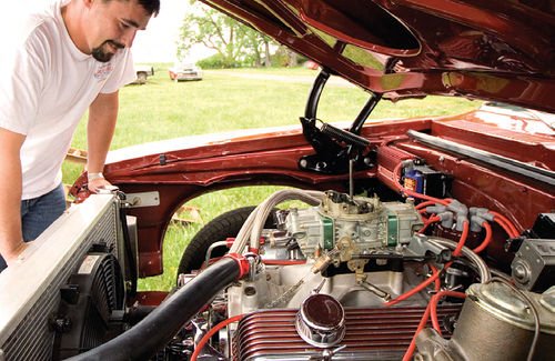
<instances>
[{"instance_id":1,"label":"engine with carburetor, red finned valve cover and metal canister","mask_svg":"<svg viewBox=\"0 0 555 361\"><path fill-rule=\"evenodd\" d=\"M240 232L231 251L249 249L250 272L193 322L196 339L213 320L240 321L195 352L233 360L400 360L417 344L418 360L491 360L492 350L495 360L522 360L536 339L536 360L553 354L554 288L527 292L492 278L471 249L424 235L432 217L423 213L412 200L329 191L313 207L278 211L275 228L251 230L249 242L241 243ZM454 202L442 221L456 230L458 219L465 233L466 214L473 217ZM430 312L433 322L423 323Z\"/></svg>"}]
</instances>

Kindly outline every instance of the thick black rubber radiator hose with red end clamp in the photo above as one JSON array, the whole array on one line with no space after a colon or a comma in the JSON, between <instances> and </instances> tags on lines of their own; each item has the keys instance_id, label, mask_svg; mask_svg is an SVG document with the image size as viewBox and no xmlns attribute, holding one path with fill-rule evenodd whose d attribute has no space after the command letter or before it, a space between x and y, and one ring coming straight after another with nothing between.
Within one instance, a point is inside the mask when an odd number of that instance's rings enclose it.
<instances>
[{"instance_id":1,"label":"thick black rubber radiator hose with red end clamp","mask_svg":"<svg viewBox=\"0 0 555 361\"><path fill-rule=\"evenodd\" d=\"M74 355L77 360L147 360L163 348L191 318L221 290L236 281L239 263L223 258L182 287L171 298L129 331L88 352Z\"/></svg>"}]
</instances>

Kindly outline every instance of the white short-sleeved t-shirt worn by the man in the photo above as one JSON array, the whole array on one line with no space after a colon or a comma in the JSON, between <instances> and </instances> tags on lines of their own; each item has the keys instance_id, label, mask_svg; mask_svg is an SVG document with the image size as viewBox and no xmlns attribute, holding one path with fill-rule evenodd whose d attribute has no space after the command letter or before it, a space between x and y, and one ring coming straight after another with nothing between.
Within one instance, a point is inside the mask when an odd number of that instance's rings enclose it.
<instances>
[{"instance_id":1,"label":"white short-sleeved t-shirt worn by the man","mask_svg":"<svg viewBox=\"0 0 555 361\"><path fill-rule=\"evenodd\" d=\"M22 199L60 184L61 164L91 102L135 78L129 48L99 62L75 47L60 12L67 2L57 0L32 14L2 50L0 127L27 136L20 154Z\"/></svg>"}]
</instances>

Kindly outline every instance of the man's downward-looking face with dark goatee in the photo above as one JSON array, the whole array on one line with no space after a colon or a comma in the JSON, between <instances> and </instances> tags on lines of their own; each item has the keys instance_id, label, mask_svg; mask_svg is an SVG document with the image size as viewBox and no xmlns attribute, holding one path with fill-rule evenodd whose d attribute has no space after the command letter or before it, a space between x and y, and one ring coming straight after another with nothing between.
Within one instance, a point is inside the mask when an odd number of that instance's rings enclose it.
<instances>
[{"instance_id":1,"label":"man's downward-looking face with dark goatee","mask_svg":"<svg viewBox=\"0 0 555 361\"><path fill-rule=\"evenodd\" d=\"M89 8L87 39L91 54L107 62L119 49L130 48L138 30L144 30L150 14L137 0L92 0Z\"/></svg>"}]
</instances>

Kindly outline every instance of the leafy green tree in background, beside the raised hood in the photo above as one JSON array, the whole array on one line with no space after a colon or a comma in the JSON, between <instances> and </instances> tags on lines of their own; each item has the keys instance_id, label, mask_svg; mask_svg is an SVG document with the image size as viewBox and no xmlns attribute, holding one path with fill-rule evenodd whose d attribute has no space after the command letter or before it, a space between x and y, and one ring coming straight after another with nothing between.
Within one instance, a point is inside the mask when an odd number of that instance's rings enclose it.
<instances>
[{"instance_id":1,"label":"leafy green tree in background, beside the raised hood","mask_svg":"<svg viewBox=\"0 0 555 361\"><path fill-rule=\"evenodd\" d=\"M192 1L194 12L183 19L178 58L186 58L194 44L215 50L223 67L236 67L252 60L262 63L262 47L270 38L212 8ZM268 58L268 56L265 57Z\"/></svg>"}]
</instances>

